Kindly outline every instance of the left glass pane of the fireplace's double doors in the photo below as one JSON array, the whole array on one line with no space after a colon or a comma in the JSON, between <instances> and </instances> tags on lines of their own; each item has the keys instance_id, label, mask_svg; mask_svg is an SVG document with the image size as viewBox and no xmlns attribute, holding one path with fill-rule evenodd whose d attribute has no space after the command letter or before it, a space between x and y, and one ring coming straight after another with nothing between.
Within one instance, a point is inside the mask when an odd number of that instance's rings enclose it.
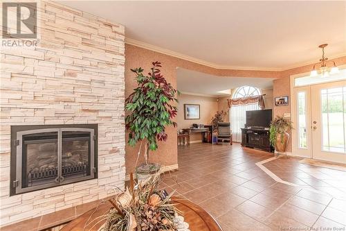
<instances>
[{"instance_id":1,"label":"left glass pane of the fireplace's double doors","mask_svg":"<svg viewBox=\"0 0 346 231\"><path fill-rule=\"evenodd\" d=\"M57 132L23 135L23 188L55 182L57 177Z\"/></svg>"}]
</instances>

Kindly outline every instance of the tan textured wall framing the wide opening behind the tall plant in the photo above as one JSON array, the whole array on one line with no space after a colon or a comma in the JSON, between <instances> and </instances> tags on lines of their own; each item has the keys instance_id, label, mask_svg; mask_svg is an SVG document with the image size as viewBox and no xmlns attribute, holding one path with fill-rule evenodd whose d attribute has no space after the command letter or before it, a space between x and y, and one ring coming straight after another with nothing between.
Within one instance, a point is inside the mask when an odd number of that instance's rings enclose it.
<instances>
[{"instance_id":1,"label":"tan textured wall framing the wide opening behind the tall plant","mask_svg":"<svg viewBox=\"0 0 346 231\"><path fill-rule=\"evenodd\" d=\"M273 98L275 96L289 95L289 76L292 74L299 74L303 72L310 71L312 65L307 65L304 67L299 67L295 69L290 69L288 71L253 71L253 70L233 70L233 69L215 69L212 67L207 67L204 65L199 65L188 60L182 60L179 58L172 57L170 55L165 55L163 53L158 53L155 51L149 51L147 49L140 48L138 46L133 46L125 44L125 83L126 89L125 94L128 96L131 90L134 88L134 81L131 80L132 74L129 68L134 67L145 67L148 69L151 62L158 60L163 62L163 74L168 77L170 83L176 86L176 67L181 67L184 69L190 69L193 71L199 71L206 74L212 74L215 76L238 76L238 77L260 77L260 78L275 78L273 85ZM343 58L336 59L337 64L346 64L346 56ZM223 108L221 102L218 103L218 108ZM270 102L270 99L267 99ZM271 103L267 103L270 105ZM273 115L282 114L285 112L290 112L289 106L287 107L275 107L273 106ZM153 152L152 162L158 162L163 165L174 165L177 167L177 148L176 148L176 128L168 128L168 140L165 143L161 143L158 151ZM136 155L138 148L125 147L126 150L126 172L127 174L134 171L134 163L136 162ZM291 147L289 147L289 151Z\"/></svg>"}]
</instances>

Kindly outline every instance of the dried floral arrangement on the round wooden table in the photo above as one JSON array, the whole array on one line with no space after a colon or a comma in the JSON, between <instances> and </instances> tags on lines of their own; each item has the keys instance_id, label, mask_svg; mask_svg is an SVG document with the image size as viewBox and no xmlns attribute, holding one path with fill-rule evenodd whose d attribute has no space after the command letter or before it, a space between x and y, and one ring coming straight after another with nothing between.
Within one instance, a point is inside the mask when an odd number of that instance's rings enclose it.
<instances>
[{"instance_id":1,"label":"dried floral arrangement on the round wooden table","mask_svg":"<svg viewBox=\"0 0 346 231\"><path fill-rule=\"evenodd\" d=\"M106 216L102 231L176 231L177 210L173 195L158 189L160 174L136 183L131 175L130 188L109 200L113 209ZM136 183L136 185L135 185Z\"/></svg>"}]
</instances>

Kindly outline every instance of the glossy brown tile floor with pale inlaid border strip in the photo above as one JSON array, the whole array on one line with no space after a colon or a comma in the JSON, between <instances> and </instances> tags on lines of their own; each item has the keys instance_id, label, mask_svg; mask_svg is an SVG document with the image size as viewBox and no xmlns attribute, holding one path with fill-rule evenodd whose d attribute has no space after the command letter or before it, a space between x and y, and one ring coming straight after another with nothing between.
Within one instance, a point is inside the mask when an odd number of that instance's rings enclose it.
<instances>
[{"instance_id":1,"label":"glossy brown tile floor with pale inlaid border strip","mask_svg":"<svg viewBox=\"0 0 346 231\"><path fill-rule=\"evenodd\" d=\"M298 185L291 186L256 166L271 153L239 144L191 144L178 150L179 171L165 173L163 187L201 205L225 231L345 228L345 171L300 164L297 158L264 164Z\"/></svg>"}]
</instances>

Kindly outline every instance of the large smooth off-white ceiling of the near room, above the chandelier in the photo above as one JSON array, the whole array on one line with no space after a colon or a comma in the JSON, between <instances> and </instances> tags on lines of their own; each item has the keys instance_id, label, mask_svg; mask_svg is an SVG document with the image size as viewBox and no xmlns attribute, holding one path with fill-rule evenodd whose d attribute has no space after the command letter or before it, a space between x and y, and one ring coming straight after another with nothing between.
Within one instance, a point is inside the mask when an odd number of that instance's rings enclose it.
<instances>
[{"instance_id":1,"label":"large smooth off-white ceiling of the near room, above the chandelier","mask_svg":"<svg viewBox=\"0 0 346 231\"><path fill-rule=\"evenodd\" d=\"M60 1L125 35L221 68L282 70L346 55L346 1Z\"/></svg>"}]
</instances>

